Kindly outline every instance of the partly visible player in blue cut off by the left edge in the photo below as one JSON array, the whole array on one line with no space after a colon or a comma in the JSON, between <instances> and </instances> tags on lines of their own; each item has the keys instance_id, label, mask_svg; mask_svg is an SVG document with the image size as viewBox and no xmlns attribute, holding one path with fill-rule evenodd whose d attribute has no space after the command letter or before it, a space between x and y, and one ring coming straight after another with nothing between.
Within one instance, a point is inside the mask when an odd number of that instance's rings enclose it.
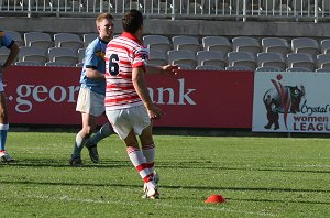
<instances>
[{"instance_id":1,"label":"partly visible player in blue cut off by the left edge","mask_svg":"<svg viewBox=\"0 0 330 218\"><path fill-rule=\"evenodd\" d=\"M3 31L0 31L0 47L2 46L9 48L10 53L7 57L7 61L4 63L0 63L0 159L3 162L12 162L14 161L14 159L8 154L4 148L7 141L7 133L9 129L9 121L2 75L15 61L20 48L11 36L6 34Z\"/></svg>"}]
</instances>

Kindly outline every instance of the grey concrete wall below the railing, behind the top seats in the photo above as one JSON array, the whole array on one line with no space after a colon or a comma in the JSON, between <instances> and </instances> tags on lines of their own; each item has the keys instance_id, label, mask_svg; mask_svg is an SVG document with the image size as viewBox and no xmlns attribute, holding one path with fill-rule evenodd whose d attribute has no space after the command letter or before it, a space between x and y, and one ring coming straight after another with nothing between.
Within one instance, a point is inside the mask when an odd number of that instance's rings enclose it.
<instances>
[{"instance_id":1,"label":"grey concrete wall below the railing, behind the top seats","mask_svg":"<svg viewBox=\"0 0 330 218\"><path fill-rule=\"evenodd\" d=\"M19 32L41 31L47 33L96 32L94 18L0 18L3 30ZM116 20L116 32L122 31L120 19ZM330 37L330 22L257 22L257 21L206 21L206 20L145 20L145 34L161 35L250 35L250 36L308 36L317 39Z\"/></svg>"}]
</instances>

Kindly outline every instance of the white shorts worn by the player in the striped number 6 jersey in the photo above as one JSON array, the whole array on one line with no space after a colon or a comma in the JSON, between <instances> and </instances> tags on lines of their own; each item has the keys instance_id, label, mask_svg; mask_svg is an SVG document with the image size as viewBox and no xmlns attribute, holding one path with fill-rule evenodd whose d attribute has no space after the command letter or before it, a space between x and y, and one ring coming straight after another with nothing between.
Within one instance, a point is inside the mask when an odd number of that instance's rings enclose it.
<instances>
[{"instance_id":1,"label":"white shorts worn by the player in the striped number 6 jersey","mask_svg":"<svg viewBox=\"0 0 330 218\"><path fill-rule=\"evenodd\" d=\"M133 130L141 135L142 131L151 124L151 119L143 105L119 110L106 111L109 122L121 139L125 139Z\"/></svg>"}]
</instances>

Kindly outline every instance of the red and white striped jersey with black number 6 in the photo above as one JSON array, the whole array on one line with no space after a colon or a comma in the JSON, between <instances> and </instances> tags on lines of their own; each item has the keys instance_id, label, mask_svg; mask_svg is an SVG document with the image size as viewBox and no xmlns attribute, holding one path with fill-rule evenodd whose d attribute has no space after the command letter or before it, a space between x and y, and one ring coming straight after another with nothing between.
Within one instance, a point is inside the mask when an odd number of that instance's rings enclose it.
<instances>
[{"instance_id":1,"label":"red and white striped jersey with black number 6","mask_svg":"<svg viewBox=\"0 0 330 218\"><path fill-rule=\"evenodd\" d=\"M106 109L117 110L142 105L132 83L132 69L145 72L148 50L138 37L124 32L111 40L106 51Z\"/></svg>"}]
</instances>

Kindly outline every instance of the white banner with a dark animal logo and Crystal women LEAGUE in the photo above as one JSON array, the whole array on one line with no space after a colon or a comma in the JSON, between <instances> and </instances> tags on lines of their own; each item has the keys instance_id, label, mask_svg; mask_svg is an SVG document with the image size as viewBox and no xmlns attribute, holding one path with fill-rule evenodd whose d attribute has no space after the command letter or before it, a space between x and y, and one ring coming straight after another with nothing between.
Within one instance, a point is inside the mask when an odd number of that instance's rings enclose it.
<instances>
[{"instance_id":1,"label":"white banner with a dark animal logo and Crystal women LEAGUE","mask_svg":"<svg viewBox=\"0 0 330 218\"><path fill-rule=\"evenodd\" d=\"M255 72L252 131L330 133L330 74Z\"/></svg>"}]
</instances>

